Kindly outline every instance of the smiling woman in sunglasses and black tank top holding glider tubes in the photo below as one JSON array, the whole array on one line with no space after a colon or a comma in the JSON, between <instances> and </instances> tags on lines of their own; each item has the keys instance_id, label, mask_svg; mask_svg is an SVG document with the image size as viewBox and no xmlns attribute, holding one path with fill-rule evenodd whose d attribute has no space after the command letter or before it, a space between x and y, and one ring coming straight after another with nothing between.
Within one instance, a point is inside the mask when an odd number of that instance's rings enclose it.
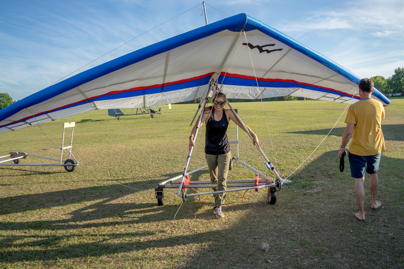
<instances>
[{"instance_id":1,"label":"smiling woman in sunglasses and black tank top holding glider tubes","mask_svg":"<svg viewBox=\"0 0 404 269\"><path fill-rule=\"evenodd\" d=\"M224 106L227 103L226 95L224 93L216 93L213 95L212 106L206 107L202 115L202 120L199 128L204 122L206 122L206 136L205 136L205 157L208 163L210 182L212 184L217 184L216 190L226 190L226 179L229 172L229 164L231 161L230 145L229 139L227 138L227 126L229 125L229 120L233 120L238 126L243 130L242 124L234 115L231 109L225 109ZM189 149L191 146L195 147L194 134L196 132L196 127L198 122L196 122L194 128L191 130L191 136L189 137ZM245 125L245 124L244 124ZM252 135L252 145L258 143L257 135L245 125L247 130ZM223 193L214 194L215 204L213 205L213 213L216 217L224 217L221 205L225 199Z\"/></svg>"}]
</instances>

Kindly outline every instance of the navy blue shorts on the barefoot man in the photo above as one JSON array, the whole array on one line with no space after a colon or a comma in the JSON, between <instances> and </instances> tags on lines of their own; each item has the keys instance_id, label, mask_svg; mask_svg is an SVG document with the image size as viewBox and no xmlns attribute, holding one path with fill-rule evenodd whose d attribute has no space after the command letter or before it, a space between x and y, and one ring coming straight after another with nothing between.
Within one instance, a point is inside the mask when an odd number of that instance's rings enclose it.
<instances>
[{"instance_id":1,"label":"navy blue shorts on the barefoot man","mask_svg":"<svg viewBox=\"0 0 404 269\"><path fill-rule=\"evenodd\" d=\"M366 173L375 174L379 171L381 153L369 156L360 156L348 152L349 168L351 169L351 177L363 178Z\"/></svg>"}]
</instances>

